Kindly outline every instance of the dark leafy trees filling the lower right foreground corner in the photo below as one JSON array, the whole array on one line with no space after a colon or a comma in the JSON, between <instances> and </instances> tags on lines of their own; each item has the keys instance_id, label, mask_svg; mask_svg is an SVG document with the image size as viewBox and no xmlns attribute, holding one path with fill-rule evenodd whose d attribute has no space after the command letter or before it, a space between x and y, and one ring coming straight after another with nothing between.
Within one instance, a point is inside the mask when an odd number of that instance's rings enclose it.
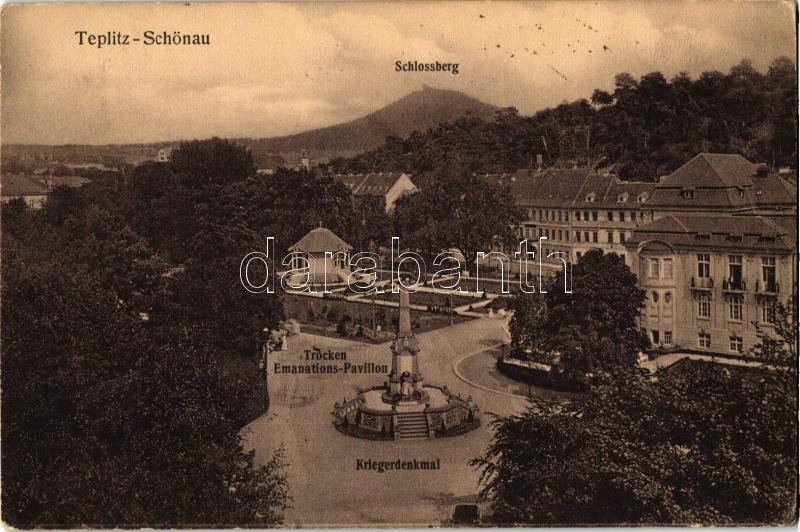
<instances>
[{"instance_id":1,"label":"dark leafy trees filling the lower right foreground corner","mask_svg":"<svg viewBox=\"0 0 800 532\"><path fill-rule=\"evenodd\" d=\"M481 469L503 525L796 519L796 410L770 376L689 361L623 372L572 404L494 421ZM796 390L795 390L796 393Z\"/></svg>"}]
</instances>

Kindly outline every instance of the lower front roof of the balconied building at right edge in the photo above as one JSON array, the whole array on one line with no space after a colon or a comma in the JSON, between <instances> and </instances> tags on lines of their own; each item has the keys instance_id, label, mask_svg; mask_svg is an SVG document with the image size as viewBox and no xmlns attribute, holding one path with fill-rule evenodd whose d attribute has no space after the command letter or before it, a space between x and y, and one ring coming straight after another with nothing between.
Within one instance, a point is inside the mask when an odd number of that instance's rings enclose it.
<instances>
[{"instance_id":1,"label":"lower front roof of the balconied building at right edge","mask_svg":"<svg viewBox=\"0 0 800 532\"><path fill-rule=\"evenodd\" d=\"M668 215L637 227L625 245L637 247L651 240L679 248L792 252L796 230L786 220L764 216Z\"/></svg>"}]
</instances>

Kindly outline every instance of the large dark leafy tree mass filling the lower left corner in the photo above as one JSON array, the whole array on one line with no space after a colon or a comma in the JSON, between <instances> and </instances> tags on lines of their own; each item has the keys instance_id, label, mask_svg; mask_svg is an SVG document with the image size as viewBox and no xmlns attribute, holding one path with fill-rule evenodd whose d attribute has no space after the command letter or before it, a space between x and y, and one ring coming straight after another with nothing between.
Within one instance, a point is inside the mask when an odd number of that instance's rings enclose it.
<instances>
[{"instance_id":1,"label":"large dark leafy tree mass filling the lower left corner","mask_svg":"<svg viewBox=\"0 0 800 532\"><path fill-rule=\"evenodd\" d=\"M3 249L6 522L281 521L281 457L256 467L243 451L250 392L219 368L206 329L140 320L61 252L30 261L5 235Z\"/></svg>"}]
</instances>

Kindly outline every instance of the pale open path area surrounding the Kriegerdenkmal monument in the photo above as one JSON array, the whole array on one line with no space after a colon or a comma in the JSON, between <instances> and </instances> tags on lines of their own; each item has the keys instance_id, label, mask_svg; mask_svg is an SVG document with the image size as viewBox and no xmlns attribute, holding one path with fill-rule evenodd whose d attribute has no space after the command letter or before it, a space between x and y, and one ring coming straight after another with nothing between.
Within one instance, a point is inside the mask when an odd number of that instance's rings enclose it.
<instances>
[{"instance_id":1,"label":"pale open path area surrounding the Kriegerdenkmal monument","mask_svg":"<svg viewBox=\"0 0 800 532\"><path fill-rule=\"evenodd\" d=\"M453 365L465 354L507 341L506 323L477 319L419 335L420 366L425 382L447 385L471 395L481 411L482 426L465 435L440 440L380 442L350 438L331 423L335 401L352 398L358 387L382 384L385 376L270 374L270 411L242 431L245 449L266 462L283 447L293 507L287 525L437 525L449 517L452 505L472 502L478 491L478 471L468 465L488 446L492 429L486 412L510 415L527 405L514 398L481 390L460 380ZM391 365L389 344L365 344L346 339L301 334L290 348L273 353L270 365L305 363L311 347L346 351L350 363ZM270 367L270 370L273 368ZM439 471L357 470L358 459L440 460Z\"/></svg>"}]
</instances>

